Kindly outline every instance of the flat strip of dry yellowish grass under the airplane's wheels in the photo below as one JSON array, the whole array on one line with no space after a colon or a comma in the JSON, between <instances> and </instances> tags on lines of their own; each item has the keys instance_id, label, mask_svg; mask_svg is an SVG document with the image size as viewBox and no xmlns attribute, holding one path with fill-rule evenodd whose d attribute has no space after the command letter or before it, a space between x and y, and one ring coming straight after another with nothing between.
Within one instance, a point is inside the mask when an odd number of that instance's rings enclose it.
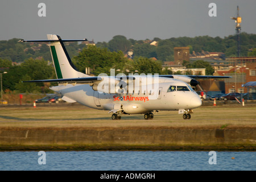
<instances>
[{"instance_id":1,"label":"flat strip of dry yellowish grass under the airplane's wheels","mask_svg":"<svg viewBox=\"0 0 256 182\"><path fill-rule=\"evenodd\" d=\"M191 119L178 111L159 111L154 119L143 114L122 115L113 121L108 111L82 105L0 107L0 127L256 127L254 106L201 106Z\"/></svg>"}]
</instances>

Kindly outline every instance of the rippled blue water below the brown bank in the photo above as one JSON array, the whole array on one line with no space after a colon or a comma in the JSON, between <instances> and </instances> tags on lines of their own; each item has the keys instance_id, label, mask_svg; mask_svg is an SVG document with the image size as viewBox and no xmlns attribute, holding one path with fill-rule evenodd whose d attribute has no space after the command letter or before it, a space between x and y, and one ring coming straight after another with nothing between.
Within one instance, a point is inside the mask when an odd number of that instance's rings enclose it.
<instances>
[{"instance_id":1,"label":"rippled blue water below the brown bank","mask_svg":"<svg viewBox=\"0 0 256 182\"><path fill-rule=\"evenodd\" d=\"M38 154L38 151L0 152L0 170L256 170L256 152L216 152L216 164L209 164L213 155L207 151L46 151L45 155ZM39 164L43 159L46 164Z\"/></svg>"}]
</instances>

